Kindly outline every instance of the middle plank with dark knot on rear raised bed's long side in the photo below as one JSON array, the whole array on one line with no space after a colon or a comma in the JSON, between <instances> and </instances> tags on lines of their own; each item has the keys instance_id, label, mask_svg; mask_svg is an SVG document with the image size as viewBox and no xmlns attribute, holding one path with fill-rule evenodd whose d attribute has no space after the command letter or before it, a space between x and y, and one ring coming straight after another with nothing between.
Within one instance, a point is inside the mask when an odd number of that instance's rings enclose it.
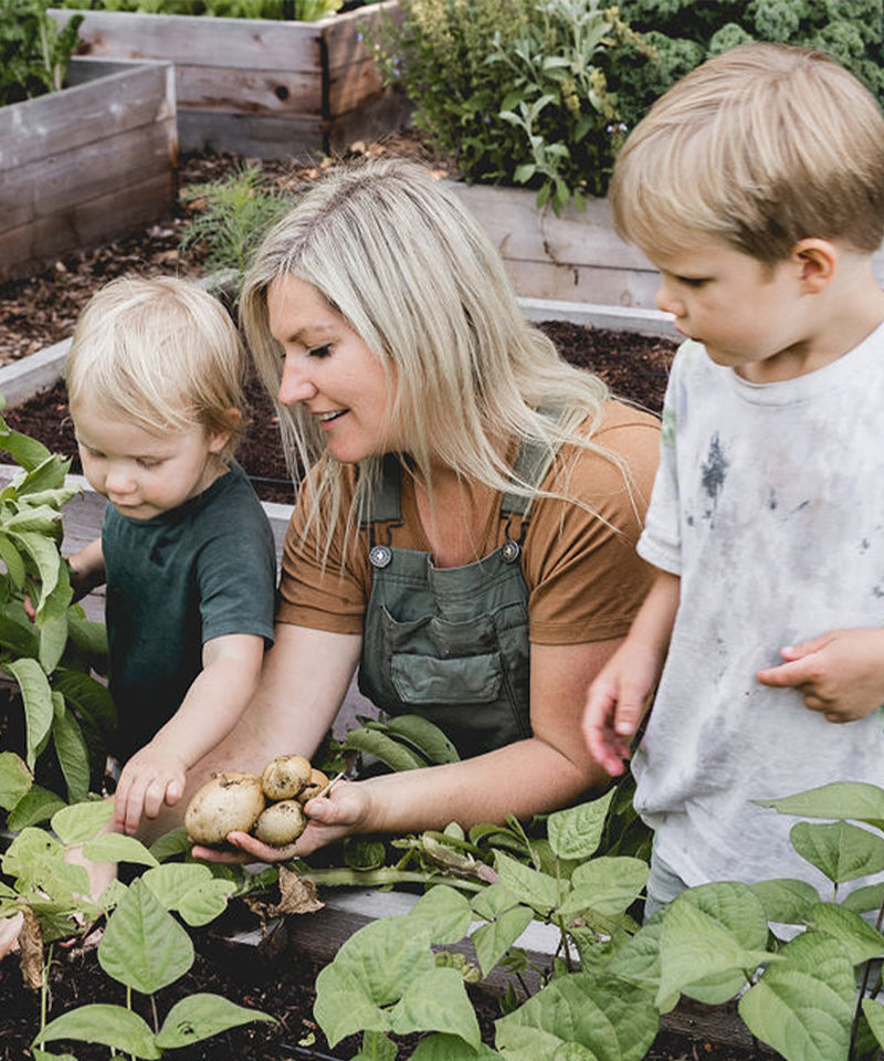
<instances>
[{"instance_id":1,"label":"middle plank with dark knot on rear raised bed's long side","mask_svg":"<svg viewBox=\"0 0 884 1061\"><path fill-rule=\"evenodd\" d=\"M227 70L176 65L178 109L280 117L323 114L322 70Z\"/></svg>"}]
</instances>

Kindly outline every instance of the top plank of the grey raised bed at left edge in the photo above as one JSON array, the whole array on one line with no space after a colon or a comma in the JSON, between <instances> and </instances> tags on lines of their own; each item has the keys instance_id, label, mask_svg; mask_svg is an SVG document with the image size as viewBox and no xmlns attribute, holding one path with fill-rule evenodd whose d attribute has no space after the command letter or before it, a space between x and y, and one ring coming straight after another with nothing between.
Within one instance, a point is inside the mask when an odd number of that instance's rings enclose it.
<instances>
[{"instance_id":1,"label":"top plank of the grey raised bed at left edge","mask_svg":"<svg viewBox=\"0 0 884 1061\"><path fill-rule=\"evenodd\" d=\"M85 65L83 65L85 64ZM90 60L73 60L77 76L101 75L108 64L86 70ZM0 107L0 170L14 170L40 158L62 155L133 128L160 123L173 147L175 84L164 63L114 63L116 73L36 99ZM7 203L0 191L0 212Z\"/></svg>"}]
</instances>

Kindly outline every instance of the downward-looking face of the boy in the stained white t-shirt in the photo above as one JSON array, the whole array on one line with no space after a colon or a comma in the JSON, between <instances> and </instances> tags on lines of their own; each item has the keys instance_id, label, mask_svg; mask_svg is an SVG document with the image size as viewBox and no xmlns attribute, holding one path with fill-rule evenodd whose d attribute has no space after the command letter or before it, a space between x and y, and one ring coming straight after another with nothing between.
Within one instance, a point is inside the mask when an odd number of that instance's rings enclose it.
<instances>
[{"instance_id":1,"label":"downward-looking face of the boy in the stained white t-shirt","mask_svg":"<svg viewBox=\"0 0 884 1061\"><path fill-rule=\"evenodd\" d=\"M685 250L652 261L661 272L657 306L674 314L678 330L702 343L717 365L754 382L809 370L812 300L798 259L767 266L698 234Z\"/></svg>"}]
</instances>

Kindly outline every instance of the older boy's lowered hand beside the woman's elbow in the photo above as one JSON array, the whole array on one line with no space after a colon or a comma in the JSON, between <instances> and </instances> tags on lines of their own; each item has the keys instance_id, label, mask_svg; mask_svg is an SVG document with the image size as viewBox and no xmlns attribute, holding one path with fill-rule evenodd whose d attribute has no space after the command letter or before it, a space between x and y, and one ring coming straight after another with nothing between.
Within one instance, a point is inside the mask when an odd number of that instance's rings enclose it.
<instances>
[{"instance_id":1,"label":"older boy's lowered hand beside the woman's elbow","mask_svg":"<svg viewBox=\"0 0 884 1061\"><path fill-rule=\"evenodd\" d=\"M625 770L624 760L648 711L657 672L654 659L627 639L589 686L583 738L592 757L612 777Z\"/></svg>"}]
</instances>

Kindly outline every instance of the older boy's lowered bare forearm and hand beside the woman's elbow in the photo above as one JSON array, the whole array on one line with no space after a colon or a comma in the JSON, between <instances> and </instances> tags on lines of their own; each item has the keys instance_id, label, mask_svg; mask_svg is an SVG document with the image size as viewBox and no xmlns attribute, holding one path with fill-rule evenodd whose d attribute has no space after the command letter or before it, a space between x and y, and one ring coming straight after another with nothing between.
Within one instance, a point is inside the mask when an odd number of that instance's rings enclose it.
<instances>
[{"instance_id":1,"label":"older boy's lowered bare forearm and hand beside the woman's elbow","mask_svg":"<svg viewBox=\"0 0 884 1061\"><path fill-rule=\"evenodd\" d=\"M678 576L657 571L625 641L589 687L583 737L597 761L613 776L623 773L630 743L660 680L680 593Z\"/></svg>"}]
</instances>

